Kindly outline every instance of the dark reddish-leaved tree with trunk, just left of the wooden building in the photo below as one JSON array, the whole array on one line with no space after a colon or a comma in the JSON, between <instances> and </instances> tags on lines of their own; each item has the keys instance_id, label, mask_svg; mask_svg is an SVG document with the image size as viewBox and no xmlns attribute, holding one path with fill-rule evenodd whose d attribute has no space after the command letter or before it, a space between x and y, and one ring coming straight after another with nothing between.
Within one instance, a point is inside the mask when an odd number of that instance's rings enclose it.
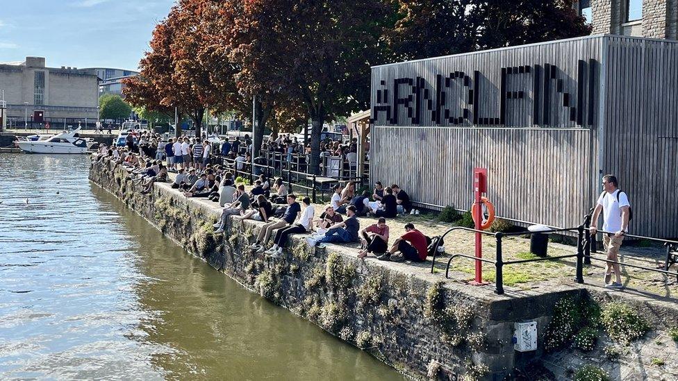
<instances>
[{"instance_id":1,"label":"dark reddish-leaved tree with trunk, just left of the wooden building","mask_svg":"<svg viewBox=\"0 0 678 381\"><path fill-rule=\"evenodd\" d=\"M256 94L299 99L311 118L310 171L324 121L369 104L370 65L383 62L386 1L247 0L236 28L236 78Z\"/></svg>"}]
</instances>

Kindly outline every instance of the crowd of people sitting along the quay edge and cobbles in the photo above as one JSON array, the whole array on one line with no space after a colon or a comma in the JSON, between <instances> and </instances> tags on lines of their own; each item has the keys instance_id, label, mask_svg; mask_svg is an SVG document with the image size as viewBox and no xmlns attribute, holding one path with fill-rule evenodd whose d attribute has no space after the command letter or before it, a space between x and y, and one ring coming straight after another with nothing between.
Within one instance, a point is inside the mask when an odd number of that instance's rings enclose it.
<instances>
[{"instance_id":1,"label":"crowd of people sitting along the quay edge and cobbles","mask_svg":"<svg viewBox=\"0 0 678 381\"><path fill-rule=\"evenodd\" d=\"M101 146L95 161L106 160L114 160L116 165L124 166L135 183L142 183L142 193L150 192L154 181L167 181L168 168L161 160L149 160L147 155L137 154L127 147L118 149L115 146ZM176 161L174 164L176 167ZM411 210L408 195L398 185L384 188L381 182L377 182L371 195L370 192L356 195L356 184L353 182L347 183L346 187L336 185L331 204L316 219L311 199L304 197L299 203L297 196L288 192L281 178L277 178L271 186L262 174L254 188L247 192L245 185L236 185L233 173L220 165L213 167L206 163L204 168L189 168L188 173L186 168L176 168L172 188L180 190L187 197L209 198L222 206L220 220L214 226L215 234L224 232L229 217L264 223L254 244L250 246L259 253L281 257L290 235L307 234L306 242L311 246L359 242L360 258L372 253L379 260L426 260L427 237L415 229L412 223L407 223L404 226L406 233L389 246L386 218ZM278 206L281 203L286 205ZM378 220L361 229L358 217L367 215L374 215ZM271 237L273 246L265 250Z\"/></svg>"}]
</instances>

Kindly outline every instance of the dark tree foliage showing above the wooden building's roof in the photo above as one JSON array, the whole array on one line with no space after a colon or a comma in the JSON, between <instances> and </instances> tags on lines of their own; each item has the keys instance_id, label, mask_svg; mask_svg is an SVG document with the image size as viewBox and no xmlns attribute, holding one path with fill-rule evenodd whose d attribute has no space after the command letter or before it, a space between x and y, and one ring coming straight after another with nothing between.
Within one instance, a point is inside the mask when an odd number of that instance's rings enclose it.
<instances>
[{"instance_id":1,"label":"dark tree foliage showing above the wooden building's roof","mask_svg":"<svg viewBox=\"0 0 678 381\"><path fill-rule=\"evenodd\" d=\"M574 0L397 0L384 35L397 60L446 56L588 35Z\"/></svg>"}]
</instances>

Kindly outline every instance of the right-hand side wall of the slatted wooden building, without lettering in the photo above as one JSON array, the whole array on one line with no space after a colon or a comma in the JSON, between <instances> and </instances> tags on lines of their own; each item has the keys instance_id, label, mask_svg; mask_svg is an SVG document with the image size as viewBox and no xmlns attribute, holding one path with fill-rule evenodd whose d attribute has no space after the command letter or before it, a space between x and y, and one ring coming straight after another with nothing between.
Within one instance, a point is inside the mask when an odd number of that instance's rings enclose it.
<instances>
[{"instance_id":1,"label":"right-hand side wall of the slatted wooden building, without lettering","mask_svg":"<svg viewBox=\"0 0 678 381\"><path fill-rule=\"evenodd\" d=\"M606 39L602 170L629 194L633 232L678 237L678 42Z\"/></svg>"}]
</instances>

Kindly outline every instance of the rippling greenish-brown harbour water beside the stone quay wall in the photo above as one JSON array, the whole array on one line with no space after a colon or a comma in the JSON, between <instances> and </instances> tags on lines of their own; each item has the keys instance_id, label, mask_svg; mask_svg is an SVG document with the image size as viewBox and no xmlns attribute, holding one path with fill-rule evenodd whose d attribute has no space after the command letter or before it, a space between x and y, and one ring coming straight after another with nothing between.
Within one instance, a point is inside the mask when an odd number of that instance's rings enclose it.
<instances>
[{"instance_id":1,"label":"rippling greenish-brown harbour water beside the stone quay wall","mask_svg":"<svg viewBox=\"0 0 678 381\"><path fill-rule=\"evenodd\" d=\"M0 154L0 379L402 379L188 255L88 167Z\"/></svg>"}]
</instances>

